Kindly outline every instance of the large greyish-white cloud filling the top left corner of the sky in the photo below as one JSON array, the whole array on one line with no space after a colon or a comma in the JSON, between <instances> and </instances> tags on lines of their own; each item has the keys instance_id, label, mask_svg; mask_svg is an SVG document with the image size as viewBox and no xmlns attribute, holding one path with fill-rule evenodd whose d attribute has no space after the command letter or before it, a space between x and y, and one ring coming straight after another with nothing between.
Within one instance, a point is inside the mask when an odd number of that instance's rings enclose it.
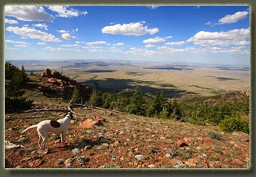
<instances>
[{"instance_id":1,"label":"large greyish-white cloud filling the top left corner of the sky","mask_svg":"<svg viewBox=\"0 0 256 177\"><path fill-rule=\"evenodd\" d=\"M5 6L5 15L23 21L52 22L52 15L46 13L42 6Z\"/></svg>"}]
</instances>

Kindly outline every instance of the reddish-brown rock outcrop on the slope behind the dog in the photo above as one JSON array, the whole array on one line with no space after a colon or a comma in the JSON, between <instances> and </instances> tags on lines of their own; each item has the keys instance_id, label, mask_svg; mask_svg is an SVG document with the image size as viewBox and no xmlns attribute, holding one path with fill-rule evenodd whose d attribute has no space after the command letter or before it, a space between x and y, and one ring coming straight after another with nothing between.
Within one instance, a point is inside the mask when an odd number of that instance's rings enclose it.
<instances>
[{"instance_id":1,"label":"reddish-brown rock outcrop on the slope behind the dog","mask_svg":"<svg viewBox=\"0 0 256 177\"><path fill-rule=\"evenodd\" d=\"M41 76L41 83L38 89L41 90L43 94L70 99L73 94L73 89L77 86L77 89L85 100L90 97L91 88L89 86L78 83L76 80L72 80L60 74L59 71L51 71L47 68Z\"/></svg>"}]
</instances>

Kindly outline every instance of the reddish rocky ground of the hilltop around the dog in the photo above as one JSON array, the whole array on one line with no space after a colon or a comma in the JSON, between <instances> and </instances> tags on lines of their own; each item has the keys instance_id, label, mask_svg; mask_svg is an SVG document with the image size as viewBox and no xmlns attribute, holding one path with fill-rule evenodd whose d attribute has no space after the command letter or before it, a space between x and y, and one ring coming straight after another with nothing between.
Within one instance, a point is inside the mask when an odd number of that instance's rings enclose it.
<instances>
[{"instance_id":1,"label":"reddish rocky ground of the hilltop around the dog","mask_svg":"<svg viewBox=\"0 0 256 177\"><path fill-rule=\"evenodd\" d=\"M73 114L67 147L51 134L46 142L50 150L42 150L36 128L20 132L44 119L62 119L68 106L58 101L35 104L51 111L6 114L6 167L249 168L249 135L243 132L88 107L74 109L85 116Z\"/></svg>"}]
</instances>

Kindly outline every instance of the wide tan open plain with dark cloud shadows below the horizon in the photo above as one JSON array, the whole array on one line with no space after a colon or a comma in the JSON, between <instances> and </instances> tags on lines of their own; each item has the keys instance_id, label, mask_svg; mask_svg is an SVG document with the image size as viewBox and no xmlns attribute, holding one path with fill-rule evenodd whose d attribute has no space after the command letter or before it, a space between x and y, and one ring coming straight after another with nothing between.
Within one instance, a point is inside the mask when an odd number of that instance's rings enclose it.
<instances>
[{"instance_id":1,"label":"wide tan open plain with dark cloud shadows below the horizon","mask_svg":"<svg viewBox=\"0 0 256 177\"><path fill-rule=\"evenodd\" d=\"M19 63L16 64L19 66ZM196 63L143 63L128 61L64 61L23 63L26 71L40 72L49 67L62 71L77 82L101 91L120 92L139 86L143 93L166 97L212 96L249 88L248 66L219 66ZM21 64L20 64L21 67Z\"/></svg>"}]
</instances>

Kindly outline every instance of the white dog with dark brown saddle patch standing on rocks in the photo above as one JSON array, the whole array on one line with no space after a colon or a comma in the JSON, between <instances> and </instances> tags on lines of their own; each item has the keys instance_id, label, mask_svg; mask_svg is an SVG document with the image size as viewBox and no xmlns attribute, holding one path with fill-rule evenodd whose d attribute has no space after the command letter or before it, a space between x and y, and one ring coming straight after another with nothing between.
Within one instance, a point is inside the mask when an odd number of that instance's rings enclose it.
<instances>
[{"instance_id":1,"label":"white dog with dark brown saddle patch standing on rocks","mask_svg":"<svg viewBox=\"0 0 256 177\"><path fill-rule=\"evenodd\" d=\"M65 133L68 131L68 127L70 124L70 120L73 118L71 113L65 115L64 119L55 120L44 120L36 125L32 125L26 128L23 132L26 132L30 128L38 127L38 136L39 136L39 147L40 149L46 149L46 140L49 136L49 132L54 132L56 134L60 134L60 139L63 145L65 146L64 138Z\"/></svg>"}]
</instances>

